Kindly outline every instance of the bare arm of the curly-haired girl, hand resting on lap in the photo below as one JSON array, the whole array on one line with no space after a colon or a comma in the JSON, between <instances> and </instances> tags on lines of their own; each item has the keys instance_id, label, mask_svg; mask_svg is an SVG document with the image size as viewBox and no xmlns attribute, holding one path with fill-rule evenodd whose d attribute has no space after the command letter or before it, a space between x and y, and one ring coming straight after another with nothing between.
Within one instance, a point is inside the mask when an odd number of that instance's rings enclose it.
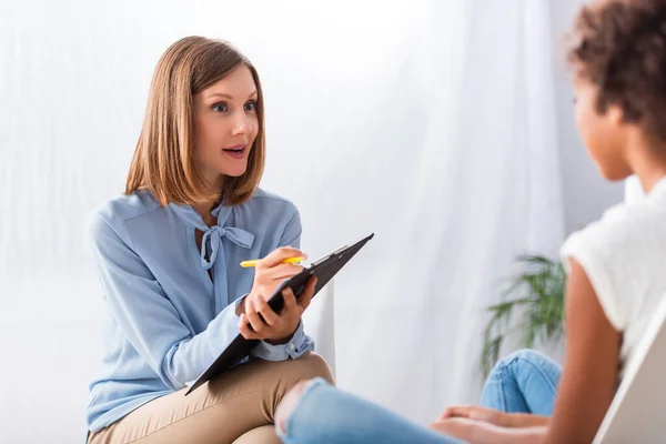
<instances>
[{"instance_id":1,"label":"bare arm of the curly-haired girl, hand resting on lap","mask_svg":"<svg viewBox=\"0 0 666 444\"><path fill-rule=\"evenodd\" d=\"M571 260L566 289L566 356L552 418L451 407L431 425L470 443L591 443L617 387L620 335L610 325L585 270Z\"/></svg>"}]
</instances>

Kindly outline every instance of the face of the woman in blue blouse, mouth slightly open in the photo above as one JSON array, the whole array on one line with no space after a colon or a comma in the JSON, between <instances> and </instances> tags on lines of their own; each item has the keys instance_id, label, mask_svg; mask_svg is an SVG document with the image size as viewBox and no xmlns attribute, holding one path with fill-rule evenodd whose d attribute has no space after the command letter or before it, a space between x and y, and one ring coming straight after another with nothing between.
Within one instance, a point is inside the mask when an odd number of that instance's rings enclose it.
<instances>
[{"instance_id":1,"label":"face of the woman in blue blouse, mouth slightly open","mask_svg":"<svg viewBox=\"0 0 666 444\"><path fill-rule=\"evenodd\" d=\"M194 153L211 186L219 188L224 175L240 176L248 169L259 131L256 100L256 84L245 65L194 95Z\"/></svg>"}]
</instances>

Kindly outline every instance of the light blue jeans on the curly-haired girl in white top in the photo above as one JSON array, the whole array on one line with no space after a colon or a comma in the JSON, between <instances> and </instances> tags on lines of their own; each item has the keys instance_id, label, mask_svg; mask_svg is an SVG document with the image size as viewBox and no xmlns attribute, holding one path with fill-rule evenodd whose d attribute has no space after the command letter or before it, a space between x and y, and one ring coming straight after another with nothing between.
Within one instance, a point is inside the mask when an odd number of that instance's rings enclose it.
<instances>
[{"instance_id":1,"label":"light blue jeans on the curly-haired girl in white top","mask_svg":"<svg viewBox=\"0 0 666 444\"><path fill-rule=\"evenodd\" d=\"M516 352L493 369L482 404L511 413L549 415L559 373L559 366L545 356L531 351ZM323 380L313 380L304 389L285 431L278 427L278 434L285 444L460 443L337 391Z\"/></svg>"}]
</instances>

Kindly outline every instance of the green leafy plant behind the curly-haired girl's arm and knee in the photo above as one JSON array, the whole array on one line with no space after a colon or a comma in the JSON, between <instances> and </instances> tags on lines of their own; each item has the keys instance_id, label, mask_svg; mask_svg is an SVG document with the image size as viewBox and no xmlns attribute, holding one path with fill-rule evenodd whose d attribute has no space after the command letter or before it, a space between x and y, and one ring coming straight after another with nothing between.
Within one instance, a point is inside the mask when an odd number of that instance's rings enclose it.
<instances>
[{"instance_id":1,"label":"green leafy plant behind the curly-haired girl's arm and knee","mask_svg":"<svg viewBox=\"0 0 666 444\"><path fill-rule=\"evenodd\" d=\"M503 301L488 306L481 365L484 376L500 357L504 341L518 335L522 346L558 341L564 333L566 274L561 262L539 255L517 258L522 271L503 293Z\"/></svg>"}]
</instances>

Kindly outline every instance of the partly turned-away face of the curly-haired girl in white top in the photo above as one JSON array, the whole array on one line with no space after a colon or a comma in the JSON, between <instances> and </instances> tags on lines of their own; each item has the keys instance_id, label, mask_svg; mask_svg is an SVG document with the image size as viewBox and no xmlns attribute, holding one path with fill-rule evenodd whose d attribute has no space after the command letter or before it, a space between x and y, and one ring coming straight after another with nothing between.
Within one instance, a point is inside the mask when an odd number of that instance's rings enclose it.
<instances>
[{"instance_id":1,"label":"partly turned-away face of the curly-haired girl in white top","mask_svg":"<svg viewBox=\"0 0 666 444\"><path fill-rule=\"evenodd\" d=\"M632 174L626 161L627 124L618 107L597 111L597 88L585 79L574 81L576 92L576 125L592 160L608 180L622 180Z\"/></svg>"}]
</instances>

